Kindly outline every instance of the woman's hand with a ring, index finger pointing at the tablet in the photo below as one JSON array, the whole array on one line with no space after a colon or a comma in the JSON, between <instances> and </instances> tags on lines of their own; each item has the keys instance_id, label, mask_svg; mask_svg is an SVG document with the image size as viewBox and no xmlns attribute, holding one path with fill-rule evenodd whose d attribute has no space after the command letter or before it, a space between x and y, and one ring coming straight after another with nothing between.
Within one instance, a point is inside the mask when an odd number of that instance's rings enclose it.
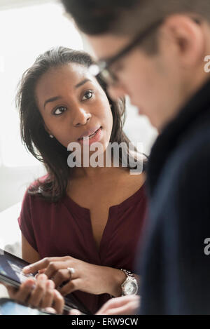
<instances>
[{"instance_id":1,"label":"woman's hand with a ring, index finger pointing at the tablet","mask_svg":"<svg viewBox=\"0 0 210 329\"><path fill-rule=\"evenodd\" d=\"M68 267L73 268L74 273L71 274ZM118 297L121 295L121 285L126 278L125 273L120 269L89 264L70 256L44 258L25 267L23 272L29 274L43 269L45 275L54 281L55 288L68 281L59 288L62 295L81 290L94 295L109 293Z\"/></svg>"}]
</instances>

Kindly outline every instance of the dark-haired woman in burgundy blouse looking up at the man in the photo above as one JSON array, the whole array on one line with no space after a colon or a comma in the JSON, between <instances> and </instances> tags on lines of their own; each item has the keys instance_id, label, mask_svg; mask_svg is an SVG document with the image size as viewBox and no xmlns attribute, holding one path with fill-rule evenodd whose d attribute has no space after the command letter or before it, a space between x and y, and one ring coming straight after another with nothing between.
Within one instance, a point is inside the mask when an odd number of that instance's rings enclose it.
<instances>
[{"instance_id":1,"label":"dark-haired woman in burgundy blouse looking up at the man","mask_svg":"<svg viewBox=\"0 0 210 329\"><path fill-rule=\"evenodd\" d=\"M144 174L130 175L130 167L67 165L71 142L85 144L90 156L93 142L104 154L109 142L129 142L125 102L109 98L91 64L87 53L60 47L39 56L22 77L22 140L48 175L27 190L18 221L23 259L39 261L26 271L42 269L57 288L68 281L60 293L74 292L95 312L122 294L121 269L134 269L146 196Z\"/></svg>"}]
</instances>

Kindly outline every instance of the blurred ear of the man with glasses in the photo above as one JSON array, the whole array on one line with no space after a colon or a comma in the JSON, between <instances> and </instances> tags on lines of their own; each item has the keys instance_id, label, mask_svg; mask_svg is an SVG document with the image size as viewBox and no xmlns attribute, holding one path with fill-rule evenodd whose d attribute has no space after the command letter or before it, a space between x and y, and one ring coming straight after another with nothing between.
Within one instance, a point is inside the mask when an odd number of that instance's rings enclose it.
<instances>
[{"instance_id":1,"label":"blurred ear of the man with glasses","mask_svg":"<svg viewBox=\"0 0 210 329\"><path fill-rule=\"evenodd\" d=\"M165 33L176 46L181 66L189 68L203 63L205 34L202 23L188 15L172 15L165 20Z\"/></svg>"}]
</instances>

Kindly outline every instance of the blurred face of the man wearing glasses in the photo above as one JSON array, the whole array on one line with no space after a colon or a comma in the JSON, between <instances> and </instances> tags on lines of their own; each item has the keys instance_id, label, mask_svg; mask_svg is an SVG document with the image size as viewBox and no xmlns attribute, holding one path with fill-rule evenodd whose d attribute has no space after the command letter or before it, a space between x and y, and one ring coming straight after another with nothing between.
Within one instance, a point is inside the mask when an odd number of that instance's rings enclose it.
<instances>
[{"instance_id":1,"label":"blurred face of the man wearing glasses","mask_svg":"<svg viewBox=\"0 0 210 329\"><path fill-rule=\"evenodd\" d=\"M183 60L188 54L182 53L174 39L167 34L162 36L155 55L148 55L137 46L111 67L119 81L109 87L111 97L129 95L139 114L148 116L158 130L176 116L190 97L189 81L196 72L190 71L190 66L184 67ZM99 60L109 60L127 46L131 38L103 34L87 36L87 41Z\"/></svg>"}]
</instances>

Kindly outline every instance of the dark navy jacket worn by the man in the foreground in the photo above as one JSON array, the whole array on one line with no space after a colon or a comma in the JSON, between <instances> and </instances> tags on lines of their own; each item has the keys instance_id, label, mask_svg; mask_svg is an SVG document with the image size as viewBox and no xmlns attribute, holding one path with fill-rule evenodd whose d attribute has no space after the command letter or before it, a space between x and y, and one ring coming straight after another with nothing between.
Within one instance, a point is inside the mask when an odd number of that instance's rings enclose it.
<instances>
[{"instance_id":1,"label":"dark navy jacket worn by the man in the foreground","mask_svg":"<svg viewBox=\"0 0 210 329\"><path fill-rule=\"evenodd\" d=\"M210 314L210 81L155 142L148 194L140 313Z\"/></svg>"}]
</instances>

